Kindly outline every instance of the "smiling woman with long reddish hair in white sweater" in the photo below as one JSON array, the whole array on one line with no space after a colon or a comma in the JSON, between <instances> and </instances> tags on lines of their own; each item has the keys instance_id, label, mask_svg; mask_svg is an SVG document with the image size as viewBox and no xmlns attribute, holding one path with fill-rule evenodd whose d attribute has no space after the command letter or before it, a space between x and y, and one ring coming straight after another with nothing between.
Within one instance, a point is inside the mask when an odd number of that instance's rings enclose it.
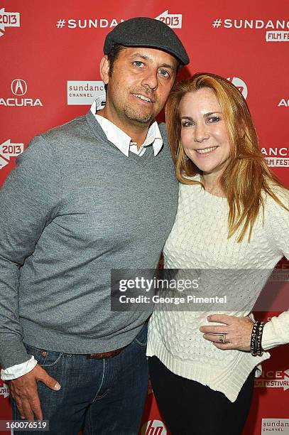
<instances>
[{"instance_id":1,"label":"smiling woman with long reddish hair in white sweater","mask_svg":"<svg viewBox=\"0 0 289 435\"><path fill-rule=\"evenodd\" d=\"M227 276L236 304L226 314L154 311L153 390L174 435L241 434L254 368L270 358L266 350L289 342L288 312L265 326L249 317L271 270L289 258L289 193L266 165L246 102L229 81L197 73L178 83L166 122L180 193L165 268L248 273L239 282Z\"/></svg>"}]
</instances>

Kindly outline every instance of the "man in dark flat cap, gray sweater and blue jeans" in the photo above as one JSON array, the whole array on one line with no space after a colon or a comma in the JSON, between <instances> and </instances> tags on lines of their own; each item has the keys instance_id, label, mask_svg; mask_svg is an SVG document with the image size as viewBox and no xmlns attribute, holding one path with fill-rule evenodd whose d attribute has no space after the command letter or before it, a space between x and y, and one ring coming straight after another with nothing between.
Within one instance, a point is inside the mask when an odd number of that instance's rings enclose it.
<instances>
[{"instance_id":1,"label":"man in dark flat cap, gray sweater and blue jeans","mask_svg":"<svg viewBox=\"0 0 289 435\"><path fill-rule=\"evenodd\" d=\"M148 313L110 311L110 271L156 267L173 225L178 186L154 118L188 62L164 23L120 23L100 63L105 107L36 136L6 180L0 363L13 419L47 419L55 435L138 432Z\"/></svg>"}]
</instances>

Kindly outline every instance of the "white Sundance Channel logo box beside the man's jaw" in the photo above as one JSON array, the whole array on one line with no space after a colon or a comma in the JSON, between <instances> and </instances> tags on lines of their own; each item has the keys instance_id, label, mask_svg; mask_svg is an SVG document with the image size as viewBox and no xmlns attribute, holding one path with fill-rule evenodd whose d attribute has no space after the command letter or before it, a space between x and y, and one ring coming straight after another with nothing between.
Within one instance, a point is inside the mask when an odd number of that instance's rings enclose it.
<instances>
[{"instance_id":1,"label":"white Sundance Channel logo box beside the man's jaw","mask_svg":"<svg viewBox=\"0 0 289 435\"><path fill-rule=\"evenodd\" d=\"M67 81L67 104L92 104L104 94L104 82L101 81Z\"/></svg>"}]
</instances>

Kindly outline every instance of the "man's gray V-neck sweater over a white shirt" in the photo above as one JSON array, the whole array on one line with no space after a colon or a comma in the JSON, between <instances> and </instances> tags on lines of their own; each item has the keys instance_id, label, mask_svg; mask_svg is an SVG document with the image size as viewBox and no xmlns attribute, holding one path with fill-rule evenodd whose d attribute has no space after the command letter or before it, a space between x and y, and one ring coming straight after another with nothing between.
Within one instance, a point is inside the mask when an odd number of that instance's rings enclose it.
<instances>
[{"instance_id":1,"label":"man's gray V-neck sweater over a white shirt","mask_svg":"<svg viewBox=\"0 0 289 435\"><path fill-rule=\"evenodd\" d=\"M0 192L0 364L23 345L95 353L131 343L148 313L110 311L112 268L153 268L178 182L165 139L129 158L93 114L36 136Z\"/></svg>"}]
</instances>

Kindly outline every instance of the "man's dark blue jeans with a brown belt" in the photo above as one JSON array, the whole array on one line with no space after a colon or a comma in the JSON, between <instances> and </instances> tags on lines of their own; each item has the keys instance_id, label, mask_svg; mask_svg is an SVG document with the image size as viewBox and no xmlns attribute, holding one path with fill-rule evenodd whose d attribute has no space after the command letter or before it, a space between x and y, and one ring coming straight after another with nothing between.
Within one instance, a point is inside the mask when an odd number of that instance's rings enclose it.
<instances>
[{"instance_id":1,"label":"man's dark blue jeans with a brown belt","mask_svg":"<svg viewBox=\"0 0 289 435\"><path fill-rule=\"evenodd\" d=\"M136 435L148 388L146 360L147 325L119 355L103 360L87 359L26 345L61 390L38 382L43 419L49 431L14 431L14 434ZM41 355L43 350L46 356ZM12 400L13 419L20 420Z\"/></svg>"}]
</instances>

